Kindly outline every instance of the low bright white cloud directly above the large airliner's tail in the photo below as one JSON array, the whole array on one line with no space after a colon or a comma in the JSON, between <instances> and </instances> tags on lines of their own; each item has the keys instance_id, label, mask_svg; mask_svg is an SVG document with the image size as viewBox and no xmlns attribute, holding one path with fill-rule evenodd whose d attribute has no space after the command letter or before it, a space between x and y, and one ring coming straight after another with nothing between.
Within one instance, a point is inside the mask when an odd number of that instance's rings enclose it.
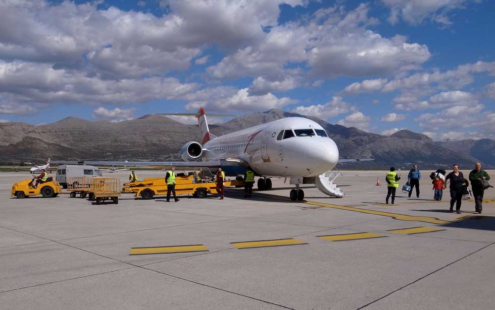
<instances>
[{"instance_id":1,"label":"low bright white cloud directly above the large airliner's tail","mask_svg":"<svg viewBox=\"0 0 495 310\"><path fill-rule=\"evenodd\" d=\"M288 97L277 98L272 93L251 96L248 88L235 90L235 93L232 93L232 88L224 87L220 89L225 92L218 93L214 90L207 89L197 94L186 96L186 98L196 97L196 99L200 100L187 103L185 108L188 110L197 110L200 107L205 107L213 111L253 112L281 108L297 102ZM206 97L205 95L207 94L211 94L212 96Z\"/></svg>"}]
</instances>

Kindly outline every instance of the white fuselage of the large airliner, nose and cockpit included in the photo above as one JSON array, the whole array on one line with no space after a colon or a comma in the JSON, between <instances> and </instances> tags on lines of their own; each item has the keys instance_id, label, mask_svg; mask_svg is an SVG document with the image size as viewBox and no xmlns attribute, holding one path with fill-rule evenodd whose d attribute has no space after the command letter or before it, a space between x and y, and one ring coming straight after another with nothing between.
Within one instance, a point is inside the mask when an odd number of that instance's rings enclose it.
<instances>
[{"instance_id":1,"label":"white fuselage of the large airliner, nose and cockpit included","mask_svg":"<svg viewBox=\"0 0 495 310\"><path fill-rule=\"evenodd\" d=\"M291 133L282 133L290 131ZM293 137L283 137L293 135ZM238 158L258 174L273 177L313 177L338 162L338 148L315 121L288 117L206 142L203 160Z\"/></svg>"}]
</instances>

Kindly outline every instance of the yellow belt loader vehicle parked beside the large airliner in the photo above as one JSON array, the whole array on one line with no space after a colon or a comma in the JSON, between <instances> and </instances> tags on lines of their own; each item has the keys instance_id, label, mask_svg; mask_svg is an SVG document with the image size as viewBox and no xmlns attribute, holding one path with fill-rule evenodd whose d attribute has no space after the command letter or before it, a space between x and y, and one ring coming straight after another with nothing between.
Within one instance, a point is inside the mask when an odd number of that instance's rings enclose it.
<instances>
[{"instance_id":1,"label":"yellow belt loader vehicle parked beside the large airliner","mask_svg":"<svg viewBox=\"0 0 495 310\"><path fill-rule=\"evenodd\" d=\"M208 194L218 194L214 176L208 168L195 168L194 171L178 173L175 177L177 196L191 194L194 198L205 198ZM243 185L243 181L226 181L225 186ZM145 178L142 181L124 183L122 193L134 193L135 197L153 199L154 196L167 195L165 177Z\"/></svg>"}]
</instances>

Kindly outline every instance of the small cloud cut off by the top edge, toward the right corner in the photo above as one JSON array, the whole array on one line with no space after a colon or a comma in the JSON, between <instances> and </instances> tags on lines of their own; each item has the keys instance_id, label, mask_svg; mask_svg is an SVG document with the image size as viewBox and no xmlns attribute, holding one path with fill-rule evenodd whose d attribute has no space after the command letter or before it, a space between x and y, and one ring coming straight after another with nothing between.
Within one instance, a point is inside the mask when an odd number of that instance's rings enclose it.
<instances>
[{"instance_id":1,"label":"small cloud cut off by the top edge, toward the right corner","mask_svg":"<svg viewBox=\"0 0 495 310\"><path fill-rule=\"evenodd\" d=\"M382 0L390 9L388 21L397 24L400 18L412 25L421 24L425 19L430 19L443 26L450 25L448 14L456 9L464 9L469 3L476 0Z\"/></svg>"}]
</instances>

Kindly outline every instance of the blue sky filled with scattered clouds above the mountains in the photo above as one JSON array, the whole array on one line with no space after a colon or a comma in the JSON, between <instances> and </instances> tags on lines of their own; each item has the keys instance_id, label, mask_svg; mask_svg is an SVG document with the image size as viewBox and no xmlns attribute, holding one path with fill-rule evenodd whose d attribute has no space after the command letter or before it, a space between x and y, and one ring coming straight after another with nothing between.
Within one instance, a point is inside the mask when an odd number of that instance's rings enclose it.
<instances>
[{"instance_id":1,"label":"blue sky filled with scattered clouds above the mountains","mask_svg":"<svg viewBox=\"0 0 495 310\"><path fill-rule=\"evenodd\" d=\"M279 108L494 139L492 12L488 0L2 2L0 121Z\"/></svg>"}]
</instances>

